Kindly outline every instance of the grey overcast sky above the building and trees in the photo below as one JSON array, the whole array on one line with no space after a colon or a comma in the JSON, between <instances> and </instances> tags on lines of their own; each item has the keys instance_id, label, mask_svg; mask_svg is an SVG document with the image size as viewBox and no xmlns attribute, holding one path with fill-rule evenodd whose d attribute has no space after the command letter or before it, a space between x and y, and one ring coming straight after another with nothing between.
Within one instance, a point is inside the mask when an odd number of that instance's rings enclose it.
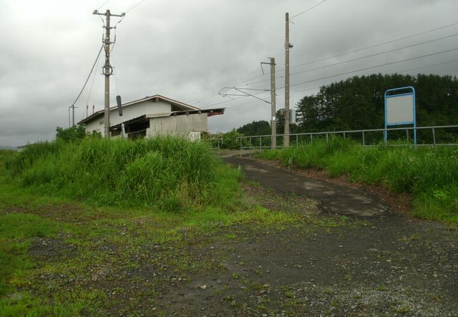
<instances>
[{"instance_id":1,"label":"grey overcast sky above the building and trees","mask_svg":"<svg viewBox=\"0 0 458 317\"><path fill-rule=\"evenodd\" d=\"M209 118L211 132L270 120L270 106L263 101L231 100L217 92L235 86L270 89L268 69L266 75L256 76L262 75L260 63L275 57L277 108L283 108L285 12L294 16L320 2L0 0L0 145L53 139L56 126L68 127L68 107L101 46L103 23L92 14L97 8L126 12L116 25L112 104L116 94L123 102L161 94L200 108L226 107L223 116ZM456 0L326 0L292 18L290 65L291 73L297 74L291 76L291 105L321 85L353 75L457 75L457 12ZM112 18L112 25L118 21ZM423 34L408 37L419 33ZM314 62L403 37L408 38ZM428 43L411 46L422 42ZM404 46L411 47L392 51ZM369 55L375 56L361 58ZM431 56L416 58L424 55ZM349 61L355 58L361 59ZM396 63L408 58L414 59ZM92 104L96 111L103 108L101 65L100 61L76 103L77 122L86 116L86 104L89 114ZM335 76L342 73L347 74ZM249 92L270 99L269 92Z\"/></svg>"}]
</instances>

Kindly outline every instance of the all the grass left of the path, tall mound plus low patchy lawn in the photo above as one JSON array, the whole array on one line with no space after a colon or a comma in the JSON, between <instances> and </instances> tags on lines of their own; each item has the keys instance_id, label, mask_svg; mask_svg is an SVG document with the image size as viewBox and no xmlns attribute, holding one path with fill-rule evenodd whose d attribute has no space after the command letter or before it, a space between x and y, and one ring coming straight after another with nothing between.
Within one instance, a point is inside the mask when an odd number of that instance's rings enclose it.
<instances>
[{"instance_id":1,"label":"all the grass left of the path, tall mound plus low patchy lawn","mask_svg":"<svg viewBox=\"0 0 458 317\"><path fill-rule=\"evenodd\" d=\"M182 139L37 144L0 151L0 171L0 316L135 314L167 268L212 268L193 239L297 221L247 204L240 171ZM132 278L144 266L158 275Z\"/></svg>"}]
</instances>

